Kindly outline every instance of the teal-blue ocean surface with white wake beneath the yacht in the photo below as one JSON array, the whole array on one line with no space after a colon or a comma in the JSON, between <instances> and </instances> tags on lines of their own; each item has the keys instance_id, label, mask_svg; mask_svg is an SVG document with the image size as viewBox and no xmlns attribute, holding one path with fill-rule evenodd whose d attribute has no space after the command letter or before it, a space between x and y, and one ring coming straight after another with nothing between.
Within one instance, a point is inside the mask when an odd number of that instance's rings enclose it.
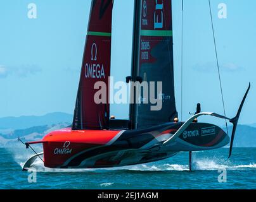
<instances>
[{"instance_id":1,"label":"teal-blue ocean surface with white wake beneath the yacht","mask_svg":"<svg viewBox=\"0 0 256 202\"><path fill-rule=\"evenodd\" d=\"M228 151L194 152L192 172L187 152L115 169L55 170L37 162L36 182L30 183L31 173L22 171L22 164L32 153L0 148L0 189L256 189L256 148L234 148L227 160ZM226 182L219 182L225 174Z\"/></svg>"}]
</instances>

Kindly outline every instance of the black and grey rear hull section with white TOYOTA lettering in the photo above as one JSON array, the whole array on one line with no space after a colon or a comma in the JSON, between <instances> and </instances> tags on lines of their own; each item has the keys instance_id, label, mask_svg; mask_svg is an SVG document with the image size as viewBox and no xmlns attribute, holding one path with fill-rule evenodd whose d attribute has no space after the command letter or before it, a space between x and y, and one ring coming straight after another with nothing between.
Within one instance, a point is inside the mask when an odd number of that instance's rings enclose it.
<instances>
[{"instance_id":1,"label":"black and grey rear hull section with white TOYOTA lettering","mask_svg":"<svg viewBox=\"0 0 256 202\"><path fill-rule=\"evenodd\" d=\"M193 123L172 143L163 144L182 126L168 123L148 129L124 131L112 145L96 146L68 159L61 167L108 168L155 162L179 151L201 151L221 148L229 137L218 126Z\"/></svg>"}]
</instances>

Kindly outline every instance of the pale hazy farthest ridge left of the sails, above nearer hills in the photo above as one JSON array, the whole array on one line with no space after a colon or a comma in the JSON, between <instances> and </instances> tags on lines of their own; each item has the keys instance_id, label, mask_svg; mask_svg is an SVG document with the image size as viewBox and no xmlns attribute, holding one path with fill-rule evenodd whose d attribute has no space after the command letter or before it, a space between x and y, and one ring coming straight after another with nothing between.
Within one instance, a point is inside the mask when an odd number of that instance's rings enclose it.
<instances>
[{"instance_id":1,"label":"pale hazy farthest ridge left of the sails, above nearer hills","mask_svg":"<svg viewBox=\"0 0 256 202\"><path fill-rule=\"evenodd\" d=\"M27 129L35 126L48 126L60 122L72 122L73 116L63 112L54 112L44 116L21 116L0 118L0 129ZM1 132L0 132L1 133Z\"/></svg>"}]
</instances>

